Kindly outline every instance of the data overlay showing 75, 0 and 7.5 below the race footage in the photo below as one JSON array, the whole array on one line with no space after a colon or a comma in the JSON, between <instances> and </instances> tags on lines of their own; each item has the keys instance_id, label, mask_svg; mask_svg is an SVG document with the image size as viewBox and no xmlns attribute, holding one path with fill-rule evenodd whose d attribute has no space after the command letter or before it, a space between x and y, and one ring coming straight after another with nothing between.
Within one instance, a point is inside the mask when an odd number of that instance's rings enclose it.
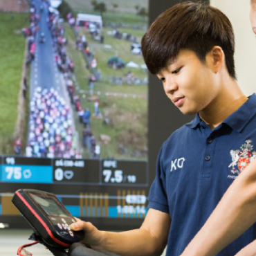
<instances>
[{"instance_id":1,"label":"data overlay showing 75, 0 and 7.5 below the race footage","mask_svg":"<svg viewBox=\"0 0 256 256\"><path fill-rule=\"evenodd\" d=\"M147 161L0 160L0 220L20 215L11 203L15 190L34 187L54 192L75 217L142 219L147 213Z\"/></svg>"}]
</instances>

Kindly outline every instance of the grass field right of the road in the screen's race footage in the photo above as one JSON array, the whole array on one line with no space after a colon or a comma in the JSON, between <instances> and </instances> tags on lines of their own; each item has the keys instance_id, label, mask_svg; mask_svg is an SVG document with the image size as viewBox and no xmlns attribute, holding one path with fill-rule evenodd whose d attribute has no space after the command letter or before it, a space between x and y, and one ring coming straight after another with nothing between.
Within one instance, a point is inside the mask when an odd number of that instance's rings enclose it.
<instances>
[{"instance_id":1,"label":"grass field right of the road in the screen's race footage","mask_svg":"<svg viewBox=\"0 0 256 256\"><path fill-rule=\"evenodd\" d=\"M69 26L65 26L66 37L68 37L68 55L75 62L75 77L80 90L89 91L88 77L89 71L85 68L86 62L82 53L75 50L75 37ZM132 31L131 31L132 32ZM80 34L86 33L82 29ZM113 70L107 66L109 57L116 55L122 57L125 62L134 61L137 64L143 64L141 56L132 55L130 53L130 43L125 40L114 39L112 35L107 35L104 31L105 44L112 46L111 49L104 48L103 44L99 44L91 39L86 33L86 39L95 57L98 59L98 68L102 73L102 77L122 76L129 70L138 77L147 77L147 73L142 68L124 68L122 70ZM143 32L140 34L143 35ZM120 54L119 54L120 53ZM90 100L89 93L80 93L82 107L89 108L93 113L93 102ZM100 93L100 94L98 94ZM106 93L122 93L119 97L109 96ZM123 95L134 95L134 97L124 98ZM147 151L147 84L145 85L113 85L108 80L100 80L94 84L94 95L100 100L100 111L103 116L107 115L113 120L113 126L102 125L102 119L91 117L91 129L98 144L101 147L101 157L109 158L114 156L120 159L146 159ZM84 98L85 97L85 98ZM77 131L82 136L82 125L76 123ZM100 135L106 134L110 136L111 141L104 144L100 141ZM81 138L80 138L80 141ZM127 150L127 154L120 154L118 147L122 145ZM139 153L138 153L139 152ZM138 153L138 154L137 154ZM84 157L89 157L89 153L84 149Z\"/></svg>"}]
</instances>

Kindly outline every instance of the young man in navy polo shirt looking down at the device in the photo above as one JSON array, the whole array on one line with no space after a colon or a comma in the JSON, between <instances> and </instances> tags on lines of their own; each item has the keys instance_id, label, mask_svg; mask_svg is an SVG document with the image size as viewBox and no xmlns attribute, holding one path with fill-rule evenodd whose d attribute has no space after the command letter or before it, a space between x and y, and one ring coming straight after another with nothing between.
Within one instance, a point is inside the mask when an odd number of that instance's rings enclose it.
<instances>
[{"instance_id":1,"label":"young man in navy polo shirt looking down at the device","mask_svg":"<svg viewBox=\"0 0 256 256\"><path fill-rule=\"evenodd\" d=\"M246 98L237 85L234 40L228 18L201 3L180 3L147 30L142 49L149 71L163 82L176 107L196 118L175 131L159 152L143 225L115 233L78 221L71 228L83 229L87 244L118 255L155 256L167 243L167 255L179 256L232 181L240 172L246 173L255 156L256 95ZM239 191L234 194L236 201ZM210 231L206 239L197 240L208 241L206 250L192 247L187 255L233 256L255 239L250 228L224 248L232 239L216 244L221 239L214 237L214 229ZM224 231L221 235L226 235Z\"/></svg>"}]
</instances>

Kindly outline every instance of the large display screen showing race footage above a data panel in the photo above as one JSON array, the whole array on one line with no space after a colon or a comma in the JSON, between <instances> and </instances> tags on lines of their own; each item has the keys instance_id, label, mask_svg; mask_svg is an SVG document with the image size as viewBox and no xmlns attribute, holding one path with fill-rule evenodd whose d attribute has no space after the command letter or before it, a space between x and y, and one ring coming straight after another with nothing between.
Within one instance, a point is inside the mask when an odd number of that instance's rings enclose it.
<instances>
[{"instance_id":1,"label":"large display screen showing race footage above a data panel","mask_svg":"<svg viewBox=\"0 0 256 256\"><path fill-rule=\"evenodd\" d=\"M0 222L26 225L11 199L31 188L98 228L138 227L149 190L148 0L8 0L0 10Z\"/></svg>"}]
</instances>

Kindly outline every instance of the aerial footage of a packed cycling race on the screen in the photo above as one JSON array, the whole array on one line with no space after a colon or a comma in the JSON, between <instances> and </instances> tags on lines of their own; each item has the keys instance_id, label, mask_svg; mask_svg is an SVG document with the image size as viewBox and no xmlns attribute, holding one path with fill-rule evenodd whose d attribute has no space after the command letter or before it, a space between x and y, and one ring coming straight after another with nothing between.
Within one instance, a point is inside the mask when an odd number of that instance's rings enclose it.
<instances>
[{"instance_id":1,"label":"aerial footage of a packed cycling race on the screen","mask_svg":"<svg viewBox=\"0 0 256 256\"><path fill-rule=\"evenodd\" d=\"M0 0L0 154L147 160L148 0Z\"/></svg>"}]
</instances>

